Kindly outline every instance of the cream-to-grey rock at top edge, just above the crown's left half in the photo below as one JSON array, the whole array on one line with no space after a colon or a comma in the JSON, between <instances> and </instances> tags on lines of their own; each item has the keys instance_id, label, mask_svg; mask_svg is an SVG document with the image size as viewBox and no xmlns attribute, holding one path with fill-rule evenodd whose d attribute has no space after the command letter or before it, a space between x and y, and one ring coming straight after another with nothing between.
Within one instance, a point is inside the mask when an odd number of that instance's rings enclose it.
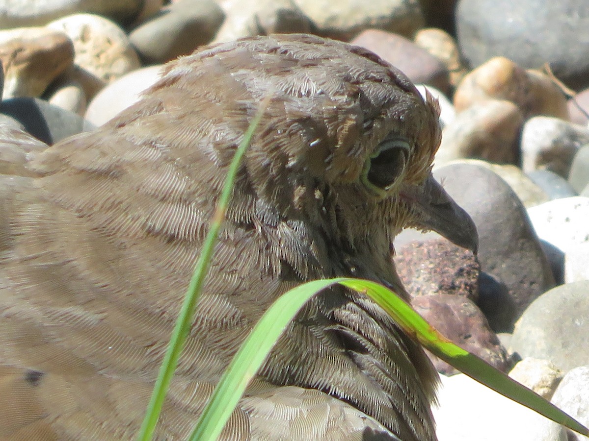
<instances>
[{"instance_id":1,"label":"cream-to-grey rock at top edge, just above the crown's left half","mask_svg":"<svg viewBox=\"0 0 589 441\"><path fill-rule=\"evenodd\" d=\"M222 0L226 19L214 42L278 34L312 34L312 23L293 0Z\"/></svg>"}]
</instances>

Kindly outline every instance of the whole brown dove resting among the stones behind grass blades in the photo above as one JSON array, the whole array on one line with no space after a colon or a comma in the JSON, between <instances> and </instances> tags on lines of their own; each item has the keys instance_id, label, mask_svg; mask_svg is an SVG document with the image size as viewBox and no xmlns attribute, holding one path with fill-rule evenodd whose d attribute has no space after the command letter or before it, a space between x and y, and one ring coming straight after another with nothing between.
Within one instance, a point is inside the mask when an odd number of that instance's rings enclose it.
<instances>
[{"instance_id":1,"label":"whole brown dove resting among the stones behind grass blades","mask_svg":"<svg viewBox=\"0 0 589 441\"><path fill-rule=\"evenodd\" d=\"M52 146L2 135L16 153L0 154L0 439L137 435L264 100L154 439L187 438L287 290L349 276L409 301L393 261L403 228L476 249L471 218L432 178L438 105L401 71L306 34L197 49L94 131ZM375 302L336 285L284 330L221 439L433 441L437 381Z\"/></svg>"}]
</instances>

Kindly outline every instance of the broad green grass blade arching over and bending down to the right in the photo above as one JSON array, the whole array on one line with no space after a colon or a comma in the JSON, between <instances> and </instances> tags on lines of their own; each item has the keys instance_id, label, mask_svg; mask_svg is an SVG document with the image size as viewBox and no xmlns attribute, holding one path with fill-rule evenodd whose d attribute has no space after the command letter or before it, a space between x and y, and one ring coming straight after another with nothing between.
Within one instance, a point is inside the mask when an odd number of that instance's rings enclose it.
<instances>
[{"instance_id":1,"label":"broad green grass blade arching over and bending down to the right","mask_svg":"<svg viewBox=\"0 0 589 441\"><path fill-rule=\"evenodd\" d=\"M216 440L231 412L243 395L247 384L256 375L264 360L272 350L283 330L294 318L300 308L321 290L340 283L350 289L365 293L391 315L408 335L422 343L435 355L475 380L497 390L501 395L530 407L541 415L561 423L583 435L589 430L568 416L562 410L538 396L532 390L520 385L504 373L488 365L477 356L459 348L432 328L411 306L391 290L375 282L359 279L316 280L298 286L284 293L264 313L262 319L252 329L241 348L207 403L191 440Z\"/></svg>"}]
</instances>

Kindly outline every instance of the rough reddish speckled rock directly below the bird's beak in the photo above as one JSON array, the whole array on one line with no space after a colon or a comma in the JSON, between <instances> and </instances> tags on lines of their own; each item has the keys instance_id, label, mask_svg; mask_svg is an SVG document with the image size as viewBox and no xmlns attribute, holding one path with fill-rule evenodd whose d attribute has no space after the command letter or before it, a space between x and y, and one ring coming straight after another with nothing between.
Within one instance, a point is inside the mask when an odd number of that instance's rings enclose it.
<instances>
[{"instance_id":1,"label":"rough reddish speckled rock directly below the bird's beak","mask_svg":"<svg viewBox=\"0 0 589 441\"><path fill-rule=\"evenodd\" d=\"M478 298L477 258L448 240L410 242L397 250L395 266L412 297L443 293Z\"/></svg>"}]
</instances>

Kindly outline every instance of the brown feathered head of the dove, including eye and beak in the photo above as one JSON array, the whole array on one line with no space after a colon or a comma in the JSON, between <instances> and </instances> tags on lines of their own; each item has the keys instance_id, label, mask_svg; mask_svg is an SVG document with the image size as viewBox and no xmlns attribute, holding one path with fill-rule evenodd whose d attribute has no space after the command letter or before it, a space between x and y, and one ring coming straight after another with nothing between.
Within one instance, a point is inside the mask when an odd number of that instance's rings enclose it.
<instances>
[{"instance_id":1,"label":"brown feathered head of the dove, including eye and beak","mask_svg":"<svg viewBox=\"0 0 589 441\"><path fill-rule=\"evenodd\" d=\"M436 100L429 93L423 99L372 52L310 35L242 39L168 64L148 98L163 89L159 105L192 118L183 125L192 138L177 132L175 145L201 140L198 152L180 161L204 155L217 170L203 182L207 190L220 188L219 167L227 167L265 106L230 220L313 228L308 246L381 247L389 257L392 239L408 226L477 248L472 220L431 176L441 139ZM193 173L206 175L206 166Z\"/></svg>"}]
</instances>

